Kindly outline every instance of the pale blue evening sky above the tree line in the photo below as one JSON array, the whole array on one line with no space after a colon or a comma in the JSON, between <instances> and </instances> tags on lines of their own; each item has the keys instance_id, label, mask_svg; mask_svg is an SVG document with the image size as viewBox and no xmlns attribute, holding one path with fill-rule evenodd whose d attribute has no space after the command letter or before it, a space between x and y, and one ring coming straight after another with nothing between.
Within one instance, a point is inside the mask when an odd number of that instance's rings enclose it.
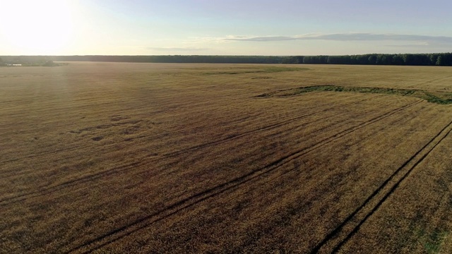
<instances>
[{"instance_id":1,"label":"pale blue evening sky above the tree line","mask_svg":"<svg viewBox=\"0 0 452 254\"><path fill-rule=\"evenodd\" d=\"M0 55L452 52L450 0L0 0Z\"/></svg>"}]
</instances>

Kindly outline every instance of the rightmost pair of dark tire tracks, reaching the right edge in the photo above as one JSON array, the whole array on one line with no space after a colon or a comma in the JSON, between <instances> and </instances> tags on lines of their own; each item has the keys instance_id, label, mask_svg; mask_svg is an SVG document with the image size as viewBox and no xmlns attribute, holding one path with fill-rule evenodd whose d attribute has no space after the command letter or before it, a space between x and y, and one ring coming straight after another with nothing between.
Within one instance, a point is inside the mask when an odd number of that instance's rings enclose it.
<instances>
[{"instance_id":1,"label":"rightmost pair of dark tire tracks, reaching the right edge","mask_svg":"<svg viewBox=\"0 0 452 254\"><path fill-rule=\"evenodd\" d=\"M429 140L429 142L426 143L420 150L418 150L415 155L412 155L412 157L396 169L396 171L394 171L393 174L391 174L391 176L389 176L388 179L386 179L386 181L379 186L379 188L376 188L376 190L371 193L366 200L364 200L362 205L359 205L359 207L349 214L341 224L326 235L325 238L323 238L323 240L318 243L313 250L311 250L311 253L319 253L323 247L328 245L328 243L338 240L338 238L340 239L340 236L343 234L347 234L345 238L340 240L339 243L336 243L334 248L331 250L331 253L337 253L338 250L340 250L340 248L342 248L342 246L347 243L347 241L349 241L357 231L359 231L362 224L364 224L364 222L366 222L367 219L379 209L383 202L385 202L386 199L388 199L388 197L396 191L400 183L409 176L412 170L415 169L415 167L417 167L417 165L420 164L430 154L430 152L432 152L432 150L434 150L434 148L452 132L451 126L452 121L441 129L441 131ZM365 212L365 210L369 211ZM359 214L362 214L362 219L358 218ZM347 229L345 228L350 228L350 226L352 229L347 233ZM322 250L322 252L325 251Z\"/></svg>"}]
</instances>

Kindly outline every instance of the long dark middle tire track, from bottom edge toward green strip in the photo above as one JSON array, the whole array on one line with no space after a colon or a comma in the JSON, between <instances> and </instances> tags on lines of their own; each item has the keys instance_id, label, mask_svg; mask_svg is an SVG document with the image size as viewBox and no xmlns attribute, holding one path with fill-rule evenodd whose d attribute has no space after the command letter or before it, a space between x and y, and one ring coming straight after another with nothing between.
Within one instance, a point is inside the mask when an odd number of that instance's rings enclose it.
<instances>
[{"instance_id":1,"label":"long dark middle tire track, from bottom edge toward green strip","mask_svg":"<svg viewBox=\"0 0 452 254\"><path fill-rule=\"evenodd\" d=\"M102 234L101 236L98 236L97 238L93 238L89 241L85 241L85 243L82 243L80 246L76 246L75 248L71 248L66 253L71 253L71 252L74 252L77 250L82 250L83 253L90 253L94 250L100 249L103 246L107 246L109 243L113 243L114 241L117 241L121 238L130 236L131 234L135 233L136 231L144 229L145 227L150 226L151 224L155 224L156 222L166 219L167 217L170 217L173 214L177 214L178 212L181 212L182 210L186 210L189 207L197 205L199 202L203 202L204 200L213 198L217 195L220 195L221 193L230 191L232 188L241 186L244 183L252 181L260 176L263 176L264 174L269 174L272 171L275 171L275 169L278 169L279 167L283 166L284 164L291 162L293 159L297 159L298 157L306 155L307 153L312 152L312 151L318 149L319 147L328 145L329 143L333 142L334 140L342 138L343 136L348 135L354 131L357 131L360 128L364 128L365 126L368 126L371 123L375 123L382 119L386 119L387 117L392 116L393 114L396 114L399 111L403 111L404 109L408 109L409 107L412 107L415 104L419 104L422 101L423 100L418 100L416 102L406 104L403 107L398 107L396 109L392 109L391 111L381 114L380 116L376 116L373 119L369 119L367 121L364 121L363 123L357 124L356 126L347 128L343 131L340 131L339 133L331 135L328 138L324 138L323 140L320 140L318 143L310 145L309 147L304 147L301 150L297 150L295 152L290 153L289 155L285 155L284 157L276 159L275 161L270 162L269 164L267 164L264 167L261 167L260 169L255 169L253 171L250 171L247 174L244 174L243 176L239 176L239 177L232 179L230 181L227 181L225 183L221 183L217 186L213 186L212 188L208 188L206 191L196 193L187 198L179 200L178 202L174 202L172 205L165 207L165 209L154 212L153 214L149 214L148 216L145 216L141 219L137 219L136 221L126 224L125 226L121 226L117 229L113 229L112 231ZM119 234L119 235L117 235L117 234ZM115 235L117 235L117 236L115 236ZM96 245L96 243L99 243L99 244ZM89 250L83 250L85 248L89 248L89 246L93 246L93 247L90 248Z\"/></svg>"}]
</instances>

